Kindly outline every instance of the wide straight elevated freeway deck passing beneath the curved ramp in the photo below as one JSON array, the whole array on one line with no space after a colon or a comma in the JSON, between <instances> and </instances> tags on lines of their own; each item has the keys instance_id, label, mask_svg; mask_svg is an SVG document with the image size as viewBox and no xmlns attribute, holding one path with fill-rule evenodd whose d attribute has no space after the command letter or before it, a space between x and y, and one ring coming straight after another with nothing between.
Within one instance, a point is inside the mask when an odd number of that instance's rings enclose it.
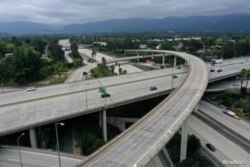
<instances>
[{"instance_id":1,"label":"wide straight elevated freeway deck passing beneath the curved ramp","mask_svg":"<svg viewBox=\"0 0 250 167\"><path fill-rule=\"evenodd\" d=\"M223 72L210 73L211 81L239 74L240 69L250 67L250 62L241 63L213 67ZM174 69L178 78L173 79L173 86L172 70L164 69L38 88L35 92L2 94L0 136L102 110L104 99L98 93L99 86L105 86L111 93L107 99L109 108L167 94L183 82L186 71L185 67ZM150 86L157 86L158 90L149 91Z\"/></svg>"}]
</instances>

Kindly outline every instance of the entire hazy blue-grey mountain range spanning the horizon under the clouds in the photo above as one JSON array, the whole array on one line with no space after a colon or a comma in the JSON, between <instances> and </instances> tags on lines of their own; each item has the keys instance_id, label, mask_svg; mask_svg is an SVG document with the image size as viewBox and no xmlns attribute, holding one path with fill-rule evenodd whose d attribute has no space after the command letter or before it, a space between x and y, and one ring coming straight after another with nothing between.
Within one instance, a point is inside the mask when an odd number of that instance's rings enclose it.
<instances>
[{"instance_id":1,"label":"entire hazy blue-grey mountain range spanning the horizon under the clouds","mask_svg":"<svg viewBox=\"0 0 250 167\"><path fill-rule=\"evenodd\" d=\"M0 32L12 35L94 34L138 32L250 32L250 14L223 16L166 17L163 19L116 19L70 24L62 28L27 22L0 22Z\"/></svg>"}]
</instances>

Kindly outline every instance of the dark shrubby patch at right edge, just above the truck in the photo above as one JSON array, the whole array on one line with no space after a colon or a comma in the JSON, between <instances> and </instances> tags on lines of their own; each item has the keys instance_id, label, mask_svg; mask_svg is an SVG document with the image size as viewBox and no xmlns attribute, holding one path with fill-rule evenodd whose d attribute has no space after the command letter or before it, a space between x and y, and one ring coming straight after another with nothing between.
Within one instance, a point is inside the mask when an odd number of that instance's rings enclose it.
<instances>
[{"instance_id":1,"label":"dark shrubby patch at right edge, just above the truck","mask_svg":"<svg viewBox=\"0 0 250 167\"><path fill-rule=\"evenodd\" d=\"M215 100L217 103L228 107L241 118L250 120L250 93L246 93L245 96L236 93L225 93L217 96Z\"/></svg>"}]
</instances>

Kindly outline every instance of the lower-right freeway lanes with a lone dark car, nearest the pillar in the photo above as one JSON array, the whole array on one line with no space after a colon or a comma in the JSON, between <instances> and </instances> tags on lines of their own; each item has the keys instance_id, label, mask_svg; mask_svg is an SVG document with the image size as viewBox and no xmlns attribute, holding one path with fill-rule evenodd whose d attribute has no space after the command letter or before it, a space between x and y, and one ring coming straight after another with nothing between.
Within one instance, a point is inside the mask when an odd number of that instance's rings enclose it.
<instances>
[{"instance_id":1,"label":"lower-right freeway lanes with a lone dark car, nearest the pillar","mask_svg":"<svg viewBox=\"0 0 250 167\"><path fill-rule=\"evenodd\" d=\"M249 165L249 153L247 151L239 147L237 143L232 142L229 137L223 136L198 118L194 116L188 118L188 131L200 139L203 149L208 152L208 155L215 159L219 166L228 166L225 164L225 161L244 161L242 165L232 166ZM212 144L216 151L212 152L209 150L206 147L207 143Z\"/></svg>"}]
</instances>

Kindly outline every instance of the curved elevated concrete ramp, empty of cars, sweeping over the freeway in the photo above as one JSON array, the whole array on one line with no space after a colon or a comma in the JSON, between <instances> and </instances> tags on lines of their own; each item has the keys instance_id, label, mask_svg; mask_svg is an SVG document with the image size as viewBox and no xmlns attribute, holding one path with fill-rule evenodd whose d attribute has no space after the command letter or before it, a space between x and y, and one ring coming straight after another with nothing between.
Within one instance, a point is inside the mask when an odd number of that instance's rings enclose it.
<instances>
[{"instance_id":1,"label":"curved elevated concrete ramp, empty of cars, sweeping over the freeway","mask_svg":"<svg viewBox=\"0 0 250 167\"><path fill-rule=\"evenodd\" d=\"M175 51L133 51L166 53L183 58L188 61L190 67L187 78L150 113L79 166L145 166L180 128L206 90L208 69L201 59Z\"/></svg>"}]
</instances>

